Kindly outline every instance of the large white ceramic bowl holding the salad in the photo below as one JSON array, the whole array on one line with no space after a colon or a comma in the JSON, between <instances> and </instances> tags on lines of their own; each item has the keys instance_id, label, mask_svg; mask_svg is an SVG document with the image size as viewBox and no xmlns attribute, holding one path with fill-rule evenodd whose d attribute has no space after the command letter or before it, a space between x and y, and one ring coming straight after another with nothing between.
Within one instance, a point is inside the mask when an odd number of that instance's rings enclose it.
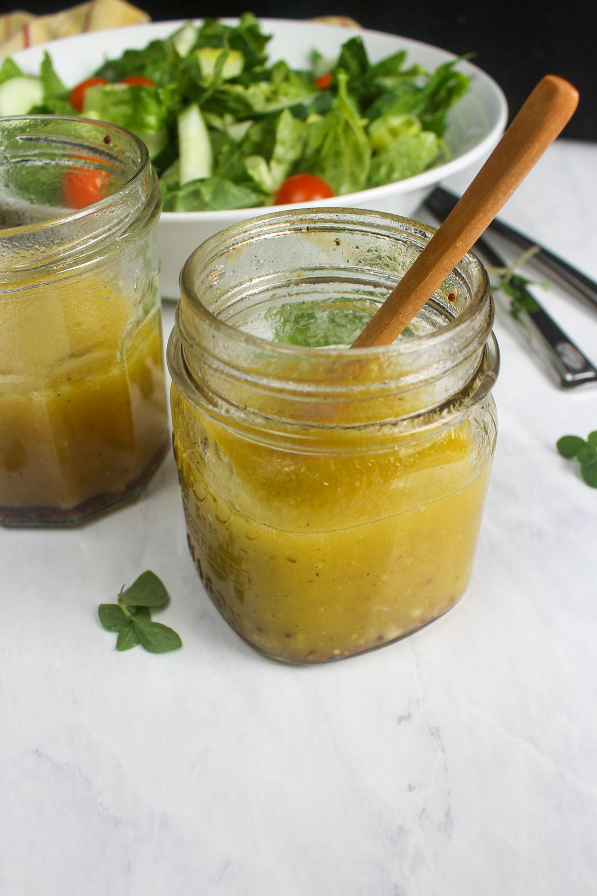
<instances>
[{"instance_id":1,"label":"large white ceramic bowl holding the salad","mask_svg":"<svg viewBox=\"0 0 597 896\"><path fill-rule=\"evenodd\" d=\"M236 19L224 19L235 24ZM38 47L30 47L15 54L14 60L25 73L37 74L43 51L47 49L56 72L68 87L90 76L106 57L120 56L125 49L145 47L150 40L165 38L182 22L152 22L106 31L91 31L72 38L54 40ZM454 56L437 47L430 47L418 40L395 37L380 31L355 31L322 25L318 22L296 22L285 19L260 19L262 30L272 34L268 52L272 62L286 59L294 68L307 68L311 48L316 47L324 56L334 56L338 48L359 33L367 47L372 62L405 49L409 62L417 62L428 70L453 59ZM472 47L474 49L474 47ZM395 184L376 186L345 196L317 202L277 206L279 209L309 208L336 205L344 208L389 211L409 217L421 204L433 187L449 175L456 174L473 162L486 156L498 142L507 121L507 103L504 94L489 75L468 62L458 64L461 72L471 77L471 86L465 97L448 113L448 129L445 141L452 152L451 159L438 168L431 168L416 177L407 177ZM162 293L164 297L178 297L178 274L192 253L203 240L232 224L263 214L262 208L230 209L226 211L165 211L158 225L158 241L162 259Z\"/></svg>"}]
</instances>

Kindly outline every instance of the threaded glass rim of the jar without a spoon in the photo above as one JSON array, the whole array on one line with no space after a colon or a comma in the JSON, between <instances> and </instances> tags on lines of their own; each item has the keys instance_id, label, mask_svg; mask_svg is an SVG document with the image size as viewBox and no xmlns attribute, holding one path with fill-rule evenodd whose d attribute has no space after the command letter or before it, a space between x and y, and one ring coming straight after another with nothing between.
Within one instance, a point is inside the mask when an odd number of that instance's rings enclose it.
<instances>
[{"instance_id":1,"label":"threaded glass rim of the jar without a spoon","mask_svg":"<svg viewBox=\"0 0 597 896\"><path fill-rule=\"evenodd\" d=\"M64 214L55 217L0 229L0 274L43 267L57 258L62 261L64 256L70 257L91 244L97 251L98 243L108 233L113 238L118 231L124 231L147 202L147 181L152 177L149 151L136 134L119 125L82 116L6 116L0 118L0 136L3 132L21 140L23 146L46 140L55 149L84 149L88 154L80 158L87 167L93 169L94 160L118 166L125 179L114 192L81 209L64 209ZM93 140L94 134L97 141ZM6 150L6 140L3 142L0 165L8 165L10 153ZM71 155L72 158L76 157ZM99 165L98 170L101 170ZM35 246L30 257L20 257L22 245L30 249Z\"/></svg>"}]
</instances>

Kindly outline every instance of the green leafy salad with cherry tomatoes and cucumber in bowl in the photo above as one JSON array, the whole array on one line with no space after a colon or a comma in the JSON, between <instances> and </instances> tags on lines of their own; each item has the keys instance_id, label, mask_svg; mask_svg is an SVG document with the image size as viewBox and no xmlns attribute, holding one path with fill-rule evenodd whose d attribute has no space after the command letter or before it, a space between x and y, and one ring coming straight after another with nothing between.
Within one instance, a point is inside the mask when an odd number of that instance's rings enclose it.
<instances>
[{"instance_id":1,"label":"green leafy salad with cherry tomatoes and cucumber in bowl","mask_svg":"<svg viewBox=\"0 0 597 896\"><path fill-rule=\"evenodd\" d=\"M405 50L371 64L360 36L311 68L269 65L252 13L216 19L107 60L68 90L47 53L38 78L0 67L0 115L53 113L121 125L147 144L165 211L215 211L354 193L448 159L448 109L469 79ZM298 192L297 192L298 191Z\"/></svg>"}]
</instances>

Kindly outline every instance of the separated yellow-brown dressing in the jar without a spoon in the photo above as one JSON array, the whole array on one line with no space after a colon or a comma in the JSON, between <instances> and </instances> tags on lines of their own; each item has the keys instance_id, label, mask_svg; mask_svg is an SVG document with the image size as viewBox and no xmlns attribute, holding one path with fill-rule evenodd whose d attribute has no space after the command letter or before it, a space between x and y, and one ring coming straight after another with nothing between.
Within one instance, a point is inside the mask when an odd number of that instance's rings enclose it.
<instances>
[{"instance_id":1,"label":"separated yellow-brown dressing in the jar without a spoon","mask_svg":"<svg viewBox=\"0 0 597 896\"><path fill-rule=\"evenodd\" d=\"M120 501L166 452L160 314L151 301L129 321L130 306L95 279L0 303L6 521L78 518Z\"/></svg>"}]
</instances>

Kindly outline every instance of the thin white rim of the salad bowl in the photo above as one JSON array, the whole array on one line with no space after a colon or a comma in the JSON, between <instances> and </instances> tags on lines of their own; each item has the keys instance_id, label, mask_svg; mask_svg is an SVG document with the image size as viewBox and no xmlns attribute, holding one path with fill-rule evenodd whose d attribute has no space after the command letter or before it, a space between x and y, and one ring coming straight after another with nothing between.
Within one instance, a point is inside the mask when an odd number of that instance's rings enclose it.
<instances>
[{"instance_id":1,"label":"thin white rim of the salad bowl","mask_svg":"<svg viewBox=\"0 0 597 896\"><path fill-rule=\"evenodd\" d=\"M225 22L226 24L234 24L239 21L238 17L236 16L219 16L218 18L221 22ZM406 38L400 34L392 34L389 31L378 31L368 28L346 28L345 26L328 25L324 22L314 22L310 19L280 19L269 18L265 16L257 16L256 18L257 21L260 22L265 29L275 27L275 24L277 22L294 22L296 24L311 25L313 27L326 29L334 28L335 30L344 32L346 34L359 33L369 34L372 37L378 38L395 38L404 41L405 44L413 48L423 47L425 49L439 51L440 53L443 53L445 56L447 56L447 59L459 58L455 53L452 53L449 50L444 49L443 47L436 47L433 44L428 44L423 42L422 40L416 40L414 38ZM172 29L170 33L174 33L175 30L182 27L186 22L198 24L203 21L204 20L202 18L160 20L159 22L141 22L134 25L127 25L124 26L124 28L111 28L99 31L84 31L81 32L81 34L73 34L66 38L49 40L43 44L36 44L33 47L26 47L13 54L13 58L15 62L18 63L19 58L23 54L30 55L31 51L43 53L45 50L51 51L52 48L57 48L56 45L58 44L64 45L64 42L66 41L72 42L80 40L81 38L91 39L93 36L99 34L122 35L124 34L124 32L130 32L131 30L162 30L166 28L166 26ZM162 211L162 225L167 224L167 222L170 222L171 224L185 223L187 225L192 225L193 223L199 223L200 221L205 221L206 223L213 221L217 223L222 222L223 227L225 227L226 223L234 224L237 220L239 220L239 215L242 218L246 212L256 212L256 215L252 215L252 217L257 217L260 214L267 214L269 210L273 209L276 209L276 211L290 211L292 209L300 208L311 209L358 207L363 202L376 202L380 199L385 198L388 194L399 195L405 193L414 193L416 190L423 190L425 189L425 187L439 183L439 181L443 180L445 177L450 177L451 175L456 174L463 168L468 168L470 165L473 165L474 162L482 159L483 156L487 155L496 145L499 140L499 136L503 133L507 124L508 108L507 99L504 95L503 90L501 90L499 84L495 82L489 74L483 72L481 68L479 68L477 65L473 65L473 63L468 60L462 60L462 64L465 65L465 68L467 68L471 73L474 73L477 77L480 77L490 86L490 89L492 90L495 98L498 101L499 112L496 123L490 129L489 134L486 134L483 137L482 141L476 143L473 147L471 147L470 150L467 150L465 153L463 153L463 155L458 156L457 159L450 159L449 161L444 162L442 165L438 165L435 168L429 168L428 170L423 171L421 174L414 175L414 177L405 177L403 180L394 181L390 184L373 186L365 190L359 190L356 193L347 193L341 196L333 196L329 199L324 200L317 199L311 202L293 202L286 205L254 205L238 209L218 209L217 211ZM341 204L338 204L338 200L340 200Z\"/></svg>"}]
</instances>

